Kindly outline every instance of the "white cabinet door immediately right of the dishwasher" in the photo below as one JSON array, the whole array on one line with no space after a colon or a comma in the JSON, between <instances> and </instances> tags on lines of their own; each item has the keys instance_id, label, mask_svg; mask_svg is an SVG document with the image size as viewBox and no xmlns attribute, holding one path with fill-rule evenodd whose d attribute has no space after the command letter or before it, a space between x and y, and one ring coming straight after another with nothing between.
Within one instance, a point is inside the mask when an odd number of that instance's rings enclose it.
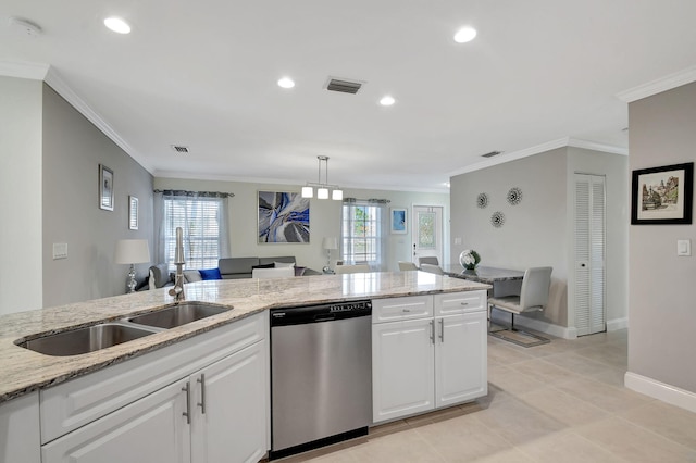
<instances>
[{"instance_id":1,"label":"white cabinet door immediately right of the dishwasher","mask_svg":"<svg viewBox=\"0 0 696 463\"><path fill-rule=\"evenodd\" d=\"M372 325L374 423L432 410L433 318Z\"/></svg>"}]
</instances>

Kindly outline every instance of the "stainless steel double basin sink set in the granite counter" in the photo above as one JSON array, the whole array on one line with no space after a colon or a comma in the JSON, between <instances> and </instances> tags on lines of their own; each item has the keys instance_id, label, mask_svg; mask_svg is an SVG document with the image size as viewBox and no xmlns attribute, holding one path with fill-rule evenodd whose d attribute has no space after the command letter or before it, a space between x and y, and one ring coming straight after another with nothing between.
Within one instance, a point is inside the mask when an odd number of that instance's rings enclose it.
<instances>
[{"instance_id":1,"label":"stainless steel double basin sink set in the granite counter","mask_svg":"<svg viewBox=\"0 0 696 463\"><path fill-rule=\"evenodd\" d=\"M117 322L100 323L24 340L17 342L17 346L46 355L77 355L139 339L229 310L232 310L231 306L185 301Z\"/></svg>"}]
</instances>

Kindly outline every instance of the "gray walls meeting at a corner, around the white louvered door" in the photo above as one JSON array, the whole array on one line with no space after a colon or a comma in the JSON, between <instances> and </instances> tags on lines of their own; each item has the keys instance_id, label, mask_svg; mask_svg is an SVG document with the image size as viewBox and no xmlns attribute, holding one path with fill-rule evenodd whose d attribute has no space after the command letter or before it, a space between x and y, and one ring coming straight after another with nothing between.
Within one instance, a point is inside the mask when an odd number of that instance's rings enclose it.
<instances>
[{"instance_id":1,"label":"gray walls meeting at a corner, around the white louvered door","mask_svg":"<svg viewBox=\"0 0 696 463\"><path fill-rule=\"evenodd\" d=\"M533 157L462 174L451 178L451 260L473 248L481 265L524 270L554 267L549 305L544 322L569 327L572 336L574 306L569 298L573 280L574 174L607 177L607 320L626 317L627 273L627 159L623 155L559 148ZM522 190L522 201L510 205L511 187ZM480 192L488 195L488 207L476 205ZM505 225L495 228L490 215L505 214Z\"/></svg>"}]
</instances>

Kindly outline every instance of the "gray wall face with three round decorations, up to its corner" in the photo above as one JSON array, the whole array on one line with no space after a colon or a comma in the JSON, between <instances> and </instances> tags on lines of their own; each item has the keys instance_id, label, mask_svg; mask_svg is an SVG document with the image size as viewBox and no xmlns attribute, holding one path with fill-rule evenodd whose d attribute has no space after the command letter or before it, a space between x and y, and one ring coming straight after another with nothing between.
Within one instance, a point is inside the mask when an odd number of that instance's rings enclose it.
<instances>
[{"instance_id":1,"label":"gray wall face with three round decorations, up to its corner","mask_svg":"<svg viewBox=\"0 0 696 463\"><path fill-rule=\"evenodd\" d=\"M549 304L535 316L568 326L568 230L567 157L557 149L481 171L458 175L451 184L451 260L458 262L464 249L481 254L481 265L524 270L554 267ZM510 205L506 199L512 187L522 190L522 201ZM488 207L476 205L478 193L488 196ZM505 224L495 228L490 215L500 211Z\"/></svg>"}]
</instances>

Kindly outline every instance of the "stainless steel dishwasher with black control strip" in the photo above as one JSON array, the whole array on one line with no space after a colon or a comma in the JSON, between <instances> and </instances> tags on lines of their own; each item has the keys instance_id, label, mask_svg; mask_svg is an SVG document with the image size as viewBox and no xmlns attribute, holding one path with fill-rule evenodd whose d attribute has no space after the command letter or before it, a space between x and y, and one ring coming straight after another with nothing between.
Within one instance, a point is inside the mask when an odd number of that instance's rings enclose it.
<instances>
[{"instance_id":1,"label":"stainless steel dishwasher with black control strip","mask_svg":"<svg viewBox=\"0 0 696 463\"><path fill-rule=\"evenodd\" d=\"M372 302L271 311L271 460L368 434Z\"/></svg>"}]
</instances>

